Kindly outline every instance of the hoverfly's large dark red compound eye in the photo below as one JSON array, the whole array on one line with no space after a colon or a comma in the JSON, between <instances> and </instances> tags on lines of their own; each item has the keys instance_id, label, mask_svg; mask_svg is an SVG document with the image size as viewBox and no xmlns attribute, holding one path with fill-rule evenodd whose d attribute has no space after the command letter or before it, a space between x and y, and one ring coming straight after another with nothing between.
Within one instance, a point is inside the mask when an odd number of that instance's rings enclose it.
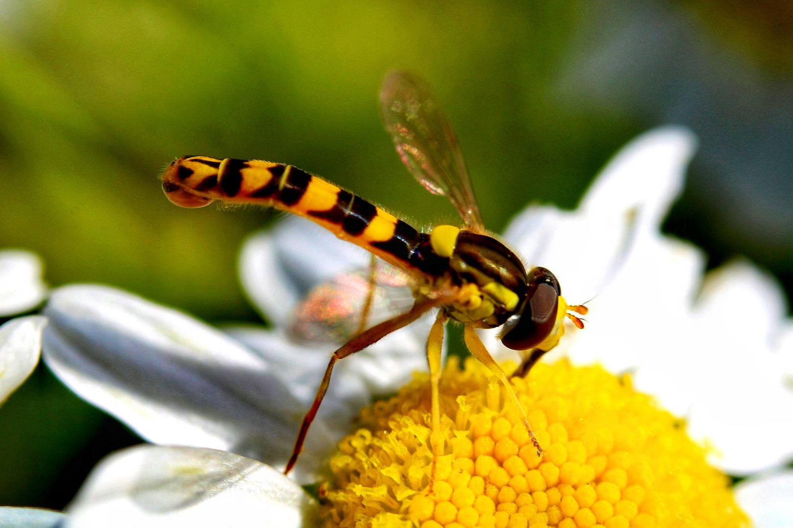
<instances>
[{"instance_id":1,"label":"hoverfly's large dark red compound eye","mask_svg":"<svg viewBox=\"0 0 793 528\"><path fill-rule=\"evenodd\" d=\"M559 308L559 281L546 268L533 268L523 306L504 324L501 342L512 350L534 348L550 334Z\"/></svg>"}]
</instances>

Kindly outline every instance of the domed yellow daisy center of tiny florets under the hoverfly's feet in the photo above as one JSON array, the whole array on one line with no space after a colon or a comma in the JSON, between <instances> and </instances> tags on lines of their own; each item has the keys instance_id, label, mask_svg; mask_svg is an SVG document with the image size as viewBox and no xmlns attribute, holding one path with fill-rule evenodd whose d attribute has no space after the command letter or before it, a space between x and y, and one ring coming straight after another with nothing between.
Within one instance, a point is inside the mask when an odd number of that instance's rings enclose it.
<instances>
[{"instance_id":1,"label":"domed yellow daisy center of tiny florets under the hoverfly's feet","mask_svg":"<svg viewBox=\"0 0 793 528\"><path fill-rule=\"evenodd\" d=\"M435 461L430 389L419 376L362 411L331 458L324 526L636 528L746 526L728 477L684 424L630 378L561 361L513 378L545 449L531 444L496 378L450 358L441 382L444 454Z\"/></svg>"}]
</instances>

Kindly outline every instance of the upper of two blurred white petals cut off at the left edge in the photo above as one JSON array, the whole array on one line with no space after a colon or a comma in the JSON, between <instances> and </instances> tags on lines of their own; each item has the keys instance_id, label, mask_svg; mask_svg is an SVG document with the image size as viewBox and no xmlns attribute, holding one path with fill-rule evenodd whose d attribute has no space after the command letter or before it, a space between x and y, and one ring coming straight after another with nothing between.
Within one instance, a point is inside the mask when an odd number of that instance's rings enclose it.
<instances>
[{"instance_id":1,"label":"upper of two blurred white petals cut off at the left edge","mask_svg":"<svg viewBox=\"0 0 793 528\"><path fill-rule=\"evenodd\" d=\"M20 249L0 251L0 317L38 306L47 294L38 256Z\"/></svg>"}]
</instances>

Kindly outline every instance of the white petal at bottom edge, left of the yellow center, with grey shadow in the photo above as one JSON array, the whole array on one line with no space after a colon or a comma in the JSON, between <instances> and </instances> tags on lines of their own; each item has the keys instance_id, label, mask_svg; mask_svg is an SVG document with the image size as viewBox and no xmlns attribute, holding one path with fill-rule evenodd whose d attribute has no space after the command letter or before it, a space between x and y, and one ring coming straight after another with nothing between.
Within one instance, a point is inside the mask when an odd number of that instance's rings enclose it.
<instances>
[{"instance_id":1,"label":"white petal at bottom edge, left of the yellow center, with grey shadow","mask_svg":"<svg viewBox=\"0 0 793 528\"><path fill-rule=\"evenodd\" d=\"M67 526L307 526L316 503L250 458L188 447L140 446L110 455L67 508Z\"/></svg>"}]
</instances>

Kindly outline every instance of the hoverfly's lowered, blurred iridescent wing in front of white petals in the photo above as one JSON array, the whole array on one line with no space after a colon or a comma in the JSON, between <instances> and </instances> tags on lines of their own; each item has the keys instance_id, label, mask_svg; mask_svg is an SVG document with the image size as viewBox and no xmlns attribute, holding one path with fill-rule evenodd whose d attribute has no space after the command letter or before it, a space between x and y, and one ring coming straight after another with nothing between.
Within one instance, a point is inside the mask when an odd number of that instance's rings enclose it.
<instances>
[{"instance_id":1,"label":"hoverfly's lowered, blurred iridescent wing in front of white petals","mask_svg":"<svg viewBox=\"0 0 793 528\"><path fill-rule=\"evenodd\" d=\"M289 335L298 342L343 344L362 326L377 323L410 310L415 302L412 279L398 268L377 262L374 291L370 294L367 269L344 272L317 284L297 305L289 319Z\"/></svg>"}]
</instances>

